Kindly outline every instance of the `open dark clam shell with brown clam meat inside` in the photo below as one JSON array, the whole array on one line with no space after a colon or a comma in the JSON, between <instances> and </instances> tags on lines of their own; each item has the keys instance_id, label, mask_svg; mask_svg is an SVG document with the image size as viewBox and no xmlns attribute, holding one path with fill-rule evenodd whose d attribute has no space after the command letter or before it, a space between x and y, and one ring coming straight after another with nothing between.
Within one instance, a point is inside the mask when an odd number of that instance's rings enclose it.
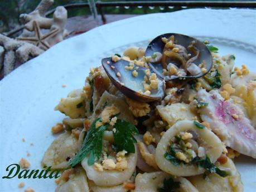
<instances>
[{"instance_id":1,"label":"open dark clam shell with brown clam meat inside","mask_svg":"<svg viewBox=\"0 0 256 192\"><path fill-rule=\"evenodd\" d=\"M165 56L165 51L166 49L166 44L162 41L162 38L170 38L171 36L174 37L174 42L177 46L180 46L180 53L179 55L181 57L179 58L184 58L180 59L179 61L170 61L170 60L166 60L166 56ZM192 44L191 44L192 43ZM192 46L191 46L192 45ZM184 48L186 50L184 50ZM183 49L183 53L182 53L182 49ZM171 80L189 80L191 78L199 78L202 77L204 75L206 75L207 72L209 72L211 70L212 67L212 56L211 56L211 52L209 51L209 49L206 47L206 45L204 43L202 43L201 41L197 40L196 38L190 37L190 36L186 36L186 35L181 35L178 33L166 33L160 36L157 36L156 38L154 38L148 45L146 52L145 52L145 56L149 57L154 55L155 53L160 52L163 54L162 60L158 61L158 62L151 62L151 65L154 68L158 68L157 71L161 72L161 70L163 70L163 68L166 68L166 66L168 65L168 62L172 62L172 63L177 63L178 65L182 65L181 67L186 71L187 70L187 66L186 63L190 62L190 63L194 63L196 66L199 66L200 63L205 62L205 68L206 71L205 72L199 72L196 75L192 76L192 75L171 75L171 76L164 76L163 78L165 79L165 81L171 81ZM170 51L170 54L175 54L172 53ZM191 56L189 56L191 55ZM197 56L197 57L195 57ZM194 58L193 58L194 57ZM163 62L163 60L165 60L165 62ZM186 63L185 63L186 62ZM162 75L163 76L163 75Z\"/></svg>"}]
</instances>

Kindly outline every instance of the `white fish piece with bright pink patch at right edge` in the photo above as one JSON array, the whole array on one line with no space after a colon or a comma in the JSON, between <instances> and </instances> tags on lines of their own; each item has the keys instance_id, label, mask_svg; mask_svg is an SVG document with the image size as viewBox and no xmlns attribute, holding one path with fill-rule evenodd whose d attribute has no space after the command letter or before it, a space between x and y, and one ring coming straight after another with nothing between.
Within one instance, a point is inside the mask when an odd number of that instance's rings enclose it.
<instances>
[{"instance_id":1,"label":"white fish piece with bright pink patch at right edge","mask_svg":"<svg viewBox=\"0 0 256 192\"><path fill-rule=\"evenodd\" d=\"M209 104L201 107L201 119L209 122L212 131L225 145L256 159L256 130L243 111L230 100L224 101L215 90L208 93L201 89L197 93L197 99Z\"/></svg>"}]
</instances>

